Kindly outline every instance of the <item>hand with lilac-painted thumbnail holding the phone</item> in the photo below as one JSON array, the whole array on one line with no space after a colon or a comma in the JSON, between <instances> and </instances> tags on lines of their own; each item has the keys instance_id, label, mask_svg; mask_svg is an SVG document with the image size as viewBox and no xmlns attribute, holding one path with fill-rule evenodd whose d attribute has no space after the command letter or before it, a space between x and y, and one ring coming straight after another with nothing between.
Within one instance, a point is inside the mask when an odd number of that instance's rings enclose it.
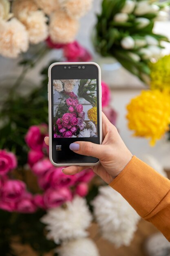
<instances>
[{"instance_id":1,"label":"hand with lilac-painted thumbnail holding the phone","mask_svg":"<svg viewBox=\"0 0 170 256\"><path fill-rule=\"evenodd\" d=\"M76 141L70 144L70 149L80 155L99 158L99 164L90 166L105 182L110 183L125 168L132 158L132 154L121 139L117 129L102 113L103 142L101 145L86 141ZM49 145L49 137L45 137ZM89 168L89 166L68 166L62 171L73 175Z\"/></svg>"}]
</instances>

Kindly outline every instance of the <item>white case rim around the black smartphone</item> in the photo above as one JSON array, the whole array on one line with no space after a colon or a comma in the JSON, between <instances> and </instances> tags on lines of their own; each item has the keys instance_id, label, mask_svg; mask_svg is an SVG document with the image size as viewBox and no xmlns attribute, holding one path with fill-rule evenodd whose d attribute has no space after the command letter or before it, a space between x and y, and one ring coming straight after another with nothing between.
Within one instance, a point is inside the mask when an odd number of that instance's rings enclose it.
<instances>
[{"instance_id":1,"label":"white case rim around the black smartphone","mask_svg":"<svg viewBox=\"0 0 170 256\"><path fill-rule=\"evenodd\" d=\"M48 70L48 76L49 76L49 83L48 83L48 100L49 100L49 159L51 161L51 163L54 166L72 166L72 165L79 165L79 166L94 166L99 164L99 161L96 163L70 163L70 164L56 164L53 159L52 159L52 120L51 120L51 68L55 65L87 65L87 64L93 64L98 68L98 72L99 72L99 141L100 144L102 144L102 85L101 85L101 69L99 67L99 65L95 62L56 62L53 63L49 66L49 70Z\"/></svg>"}]
</instances>

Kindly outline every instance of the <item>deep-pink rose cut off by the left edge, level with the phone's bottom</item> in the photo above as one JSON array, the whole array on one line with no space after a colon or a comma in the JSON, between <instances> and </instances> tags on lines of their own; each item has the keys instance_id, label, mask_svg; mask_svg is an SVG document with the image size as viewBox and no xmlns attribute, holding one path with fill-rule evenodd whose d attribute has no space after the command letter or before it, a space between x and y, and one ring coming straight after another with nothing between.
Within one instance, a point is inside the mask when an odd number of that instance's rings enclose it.
<instances>
[{"instance_id":1,"label":"deep-pink rose cut off by the left edge, level with the phone's bottom","mask_svg":"<svg viewBox=\"0 0 170 256\"><path fill-rule=\"evenodd\" d=\"M10 170L16 168L17 159L15 155L6 150L0 150L0 175L7 174Z\"/></svg>"}]
</instances>

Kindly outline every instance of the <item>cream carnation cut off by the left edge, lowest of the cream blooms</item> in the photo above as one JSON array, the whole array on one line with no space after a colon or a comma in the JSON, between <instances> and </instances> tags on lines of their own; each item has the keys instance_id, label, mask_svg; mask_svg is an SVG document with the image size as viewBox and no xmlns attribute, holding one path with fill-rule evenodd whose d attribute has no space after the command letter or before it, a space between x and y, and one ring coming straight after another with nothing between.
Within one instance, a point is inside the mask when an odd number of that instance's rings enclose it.
<instances>
[{"instance_id":1,"label":"cream carnation cut off by the left edge, lowest of the cream blooms","mask_svg":"<svg viewBox=\"0 0 170 256\"><path fill-rule=\"evenodd\" d=\"M9 21L0 20L0 54L15 58L29 47L29 37L24 25L13 18Z\"/></svg>"}]
</instances>

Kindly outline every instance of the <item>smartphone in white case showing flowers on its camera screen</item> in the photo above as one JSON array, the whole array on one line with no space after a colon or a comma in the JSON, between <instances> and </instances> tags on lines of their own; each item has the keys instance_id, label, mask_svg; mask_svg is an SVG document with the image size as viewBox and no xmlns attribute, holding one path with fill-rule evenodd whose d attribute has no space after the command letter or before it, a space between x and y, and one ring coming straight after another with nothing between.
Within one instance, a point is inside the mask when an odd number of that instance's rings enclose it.
<instances>
[{"instance_id":1,"label":"smartphone in white case showing flowers on its camera screen","mask_svg":"<svg viewBox=\"0 0 170 256\"><path fill-rule=\"evenodd\" d=\"M97 63L49 67L49 158L55 166L91 166L99 159L74 153L75 141L102 143L101 70Z\"/></svg>"}]
</instances>

